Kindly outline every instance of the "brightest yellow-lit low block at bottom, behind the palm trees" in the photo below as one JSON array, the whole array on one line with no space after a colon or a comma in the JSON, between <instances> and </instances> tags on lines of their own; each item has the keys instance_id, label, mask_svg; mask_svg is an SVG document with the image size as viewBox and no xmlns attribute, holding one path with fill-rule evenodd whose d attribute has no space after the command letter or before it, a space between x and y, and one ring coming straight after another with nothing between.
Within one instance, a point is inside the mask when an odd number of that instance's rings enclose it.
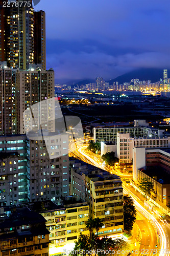
<instances>
[{"instance_id":1,"label":"brightest yellow-lit low block at bottom, behind the palm trees","mask_svg":"<svg viewBox=\"0 0 170 256\"><path fill-rule=\"evenodd\" d=\"M61 205L48 200L30 203L30 207L46 219L46 228L50 231L50 255L62 254L68 246L73 249L81 232L89 234L86 228L89 205L84 200L68 197Z\"/></svg>"}]
</instances>

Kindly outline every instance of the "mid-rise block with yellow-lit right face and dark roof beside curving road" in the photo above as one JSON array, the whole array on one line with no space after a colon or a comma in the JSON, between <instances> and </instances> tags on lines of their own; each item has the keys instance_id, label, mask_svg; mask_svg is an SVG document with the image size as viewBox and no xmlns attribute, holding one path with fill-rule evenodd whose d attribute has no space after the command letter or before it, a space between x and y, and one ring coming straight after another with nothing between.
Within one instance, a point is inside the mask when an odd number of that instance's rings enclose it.
<instances>
[{"instance_id":1,"label":"mid-rise block with yellow-lit right face and dark roof beside curving road","mask_svg":"<svg viewBox=\"0 0 170 256\"><path fill-rule=\"evenodd\" d=\"M75 160L70 167L71 190L77 198L85 199L92 219L102 219L99 236L123 231L123 187L120 177L90 164Z\"/></svg>"}]
</instances>

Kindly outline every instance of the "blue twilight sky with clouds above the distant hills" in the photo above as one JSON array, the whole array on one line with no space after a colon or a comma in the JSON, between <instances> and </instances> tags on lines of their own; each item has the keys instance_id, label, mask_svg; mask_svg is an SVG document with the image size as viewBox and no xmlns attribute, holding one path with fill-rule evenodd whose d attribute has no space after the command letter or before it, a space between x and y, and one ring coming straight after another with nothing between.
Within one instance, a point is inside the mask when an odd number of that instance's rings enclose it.
<instances>
[{"instance_id":1,"label":"blue twilight sky with clouds above the distant hills","mask_svg":"<svg viewBox=\"0 0 170 256\"><path fill-rule=\"evenodd\" d=\"M169 0L41 0L46 68L56 79L170 68Z\"/></svg>"}]
</instances>

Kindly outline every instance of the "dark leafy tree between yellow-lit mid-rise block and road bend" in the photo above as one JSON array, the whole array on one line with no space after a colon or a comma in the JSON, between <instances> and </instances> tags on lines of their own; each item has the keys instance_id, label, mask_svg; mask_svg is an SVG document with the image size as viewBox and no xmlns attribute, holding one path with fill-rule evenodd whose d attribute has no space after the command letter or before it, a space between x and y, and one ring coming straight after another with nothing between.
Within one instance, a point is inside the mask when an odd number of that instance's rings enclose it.
<instances>
[{"instance_id":1,"label":"dark leafy tree between yellow-lit mid-rise block and road bend","mask_svg":"<svg viewBox=\"0 0 170 256\"><path fill-rule=\"evenodd\" d=\"M124 229L128 233L132 230L136 220L136 208L131 197L124 196Z\"/></svg>"}]
</instances>

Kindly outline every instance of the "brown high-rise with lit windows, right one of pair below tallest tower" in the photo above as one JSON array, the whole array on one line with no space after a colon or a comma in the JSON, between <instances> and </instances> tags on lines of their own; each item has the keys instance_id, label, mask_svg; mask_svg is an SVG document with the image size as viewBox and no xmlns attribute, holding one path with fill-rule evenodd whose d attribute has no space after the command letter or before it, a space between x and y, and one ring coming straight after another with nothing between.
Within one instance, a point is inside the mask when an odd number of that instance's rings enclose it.
<instances>
[{"instance_id":1,"label":"brown high-rise with lit windows, right one of pair below tallest tower","mask_svg":"<svg viewBox=\"0 0 170 256\"><path fill-rule=\"evenodd\" d=\"M47 100L54 97L54 70L50 69L48 71L42 70L36 65L30 66L28 71L16 71L16 88L17 88L17 98L16 98L16 119L17 119L17 134L25 133L27 127L24 125L23 112L29 109L32 105ZM46 101L47 102L47 101ZM37 109L37 111L39 111ZM40 124L46 123L46 129L50 132L55 132L55 125L52 123L52 115L54 112L49 110L51 114L49 115L46 108L46 113L42 113L37 119L36 125L40 129ZM51 117L48 119L47 117ZM28 116L28 126L30 127L30 122L34 122L33 119L30 120ZM26 123L27 125L27 123ZM31 124L32 126L32 124Z\"/></svg>"}]
</instances>

